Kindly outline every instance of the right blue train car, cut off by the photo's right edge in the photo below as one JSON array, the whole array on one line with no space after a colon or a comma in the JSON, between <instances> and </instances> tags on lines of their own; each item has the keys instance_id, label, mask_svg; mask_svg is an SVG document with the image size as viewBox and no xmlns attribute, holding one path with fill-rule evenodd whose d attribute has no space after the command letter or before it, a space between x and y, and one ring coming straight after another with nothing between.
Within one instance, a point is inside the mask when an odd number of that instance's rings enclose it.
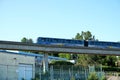
<instances>
[{"instance_id":1,"label":"right blue train car, cut off by the photo's right edge","mask_svg":"<svg viewBox=\"0 0 120 80\"><path fill-rule=\"evenodd\" d=\"M88 47L120 48L120 43L118 43L118 42L105 42L105 41L88 41Z\"/></svg>"}]
</instances>

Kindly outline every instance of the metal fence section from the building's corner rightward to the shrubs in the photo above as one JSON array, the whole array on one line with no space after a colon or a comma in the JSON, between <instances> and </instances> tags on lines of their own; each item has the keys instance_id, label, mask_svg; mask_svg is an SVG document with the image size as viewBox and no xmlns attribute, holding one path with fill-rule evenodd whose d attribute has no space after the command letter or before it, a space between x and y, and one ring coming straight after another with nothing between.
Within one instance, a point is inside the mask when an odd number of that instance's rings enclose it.
<instances>
[{"instance_id":1,"label":"metal fence section from the building's corner rightward to the shrubs","mask_svg":"<svg viewBox=\"0 0 120 80\"><path fill-rule=\"evenodd\" d=\"M39 80L87 80L91 72L96 72L99 79L104 76L102 69L94 66L50 66L46 73L42 68L38 69L36 68L36 78Z\"/></svg>"}]
</instances>

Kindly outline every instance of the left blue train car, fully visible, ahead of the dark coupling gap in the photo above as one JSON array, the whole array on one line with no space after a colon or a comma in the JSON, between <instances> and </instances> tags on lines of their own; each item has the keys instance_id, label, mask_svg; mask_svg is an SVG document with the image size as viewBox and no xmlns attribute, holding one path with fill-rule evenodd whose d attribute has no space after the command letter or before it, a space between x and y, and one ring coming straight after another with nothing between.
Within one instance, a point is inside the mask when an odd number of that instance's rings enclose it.
<instances>
[{"instance_id":1,"label":"left blue train car, fully visible, ahead of the dark coupling gap","mask_svg":"<svg viewBox=\"0 0 120 80\"><path fill-rule=\"evenodd\" d=\"M60 45L60 46L84 46L84 40L39 37L37 39L37 44Z\"/></svg>"}]
</instances>

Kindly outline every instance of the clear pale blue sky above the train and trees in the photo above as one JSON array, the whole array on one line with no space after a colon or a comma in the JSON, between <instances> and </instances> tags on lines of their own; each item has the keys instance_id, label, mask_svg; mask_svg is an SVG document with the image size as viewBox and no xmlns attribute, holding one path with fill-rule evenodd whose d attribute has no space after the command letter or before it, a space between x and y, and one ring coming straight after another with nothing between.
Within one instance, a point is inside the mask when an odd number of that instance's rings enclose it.
<instances>
[{"instance_id":1,"label":"clear pale blue sky above the train and trees","mask_svg":"<svg viewBox=\"0 0 120 80\"><path fill-rule=\"evenodd\" d=\"M120 0L0 0L0 40L71 39L87 30L120 41Z\"/></svg>"}]
</instances>

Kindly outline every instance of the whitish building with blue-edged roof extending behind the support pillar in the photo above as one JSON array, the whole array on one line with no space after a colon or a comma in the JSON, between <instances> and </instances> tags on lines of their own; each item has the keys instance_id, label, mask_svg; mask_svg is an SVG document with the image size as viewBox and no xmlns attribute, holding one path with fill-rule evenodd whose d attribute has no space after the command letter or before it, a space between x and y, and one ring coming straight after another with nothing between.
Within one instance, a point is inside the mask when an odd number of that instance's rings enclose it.
<instances>
[{"instance_id":1,"label":"whitish building with blue-edged roof extending behind the support pillar","mask_svg":"<svg viewBox=\"0 0 120 80\"><path fill-rule=\"evenodd\" d=\"M49 56L48 60L67 60ZM0 80L31 80L35 65L42 65L43 55L0 50Z\"/></svg>"}]
</instances>

